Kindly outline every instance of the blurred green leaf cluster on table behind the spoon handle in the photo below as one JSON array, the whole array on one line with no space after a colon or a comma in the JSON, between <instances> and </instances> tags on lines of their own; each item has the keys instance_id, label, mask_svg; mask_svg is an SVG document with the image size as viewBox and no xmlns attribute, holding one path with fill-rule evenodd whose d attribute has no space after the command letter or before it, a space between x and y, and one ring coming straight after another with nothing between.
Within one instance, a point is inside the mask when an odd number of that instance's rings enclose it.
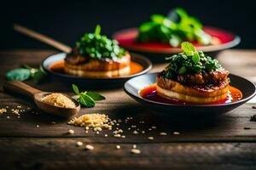
<instances>
[{"instance_id":1,"label":"blurred green leaf cluster on table behind the spoon handle","mask_svg":"<svg viewBox=\"0 0 256 170\"><path fill-rule=\"evenodd\" d=\"M26 81L30 78L34 82L42 82L46 77L46 72L40 66L39 68L33 68L28 65L24 65L25 68L15 68L14 70L8 71L5 75L8 81Z\"/></svg>"}]
</instances>

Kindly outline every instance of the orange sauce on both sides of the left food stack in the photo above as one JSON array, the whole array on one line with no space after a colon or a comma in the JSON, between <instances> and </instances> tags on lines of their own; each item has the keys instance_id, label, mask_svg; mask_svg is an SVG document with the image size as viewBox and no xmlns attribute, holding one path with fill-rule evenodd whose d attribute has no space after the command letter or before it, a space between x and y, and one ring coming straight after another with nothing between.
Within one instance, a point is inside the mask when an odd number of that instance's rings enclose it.
<instances>
[{"instance_id":1,"label":"orange sauce on both sides of the left food stack","mask_svg":"<svg viewBox=\"0 0 256 170\"><path fill-rule=\"evenodd\" d=\"M133 62L133 61L131 61L130 63L130 68L131 68L131 71L129 75L133 75L140 71L143 71L143 65L140 65L137 62ZM52 65L49 65L49 69L54 72L66 74L64 71L64 61L58 61Z\"/></svg>"}]
</instances>

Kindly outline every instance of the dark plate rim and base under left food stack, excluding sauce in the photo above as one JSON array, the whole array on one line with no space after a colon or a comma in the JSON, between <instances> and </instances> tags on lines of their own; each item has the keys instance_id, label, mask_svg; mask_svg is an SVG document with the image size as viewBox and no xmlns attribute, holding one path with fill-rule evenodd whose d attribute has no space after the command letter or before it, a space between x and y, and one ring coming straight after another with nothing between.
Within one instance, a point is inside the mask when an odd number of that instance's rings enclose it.
<instances>
[{"instance_id":1,"label":"dark plate rim and base under left food stack, excluding sauce","mask_svg":"<svg viewBox=\"0 0 256 170\"><path fill-rule=\"evenodd\" d=\"M130 79L131 77L137 77L143 75L151 70L152 63L149 59L143 57L139 54L131 53L131 61L137 62L140 65L143 65L143 71L138 72L137 74L125 76L125 77L112 77L112 78L98 78L98 77L77 77L72 75L67 75L63 73L58 73L55 71L51 71L49 66L54 64L55 62L62 61L65 58L66 54L53 54L50 55L48 58L44 59L42 62L42 66L44 71L48 72L48 74L53 77L54 79L61 80L65 83L76 83L82 87L89 87L89 88L113 88L122 86L125 81Z\"/></svg>"}]
</instances>

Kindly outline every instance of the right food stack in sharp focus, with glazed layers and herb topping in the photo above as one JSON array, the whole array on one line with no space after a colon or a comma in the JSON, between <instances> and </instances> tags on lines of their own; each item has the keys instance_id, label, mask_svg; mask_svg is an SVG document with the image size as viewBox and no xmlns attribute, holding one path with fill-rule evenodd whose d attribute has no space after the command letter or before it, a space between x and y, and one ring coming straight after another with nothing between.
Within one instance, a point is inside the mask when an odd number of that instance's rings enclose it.
<instances>
[{"instance_id":1,"label":"right food stack in sharp focus, with glazed layers and herb topping","mask_svg":"<svg viewBox=\"0 0 256 170\"><path fill-rule=\"evenodd\" d=\"M167 58L170 65L158 74L157 94L199 104L226 99L229 71L217 59L197 51L190 42L183 42L182 49L183 53Z\"/></svg>"}]
</instances>

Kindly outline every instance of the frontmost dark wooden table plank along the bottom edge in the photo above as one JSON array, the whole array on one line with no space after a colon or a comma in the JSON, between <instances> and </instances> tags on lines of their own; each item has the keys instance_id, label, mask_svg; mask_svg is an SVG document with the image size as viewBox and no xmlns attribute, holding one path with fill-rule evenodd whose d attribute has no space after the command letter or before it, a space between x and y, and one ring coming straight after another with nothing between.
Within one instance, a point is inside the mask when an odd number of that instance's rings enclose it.
<instances>
[{"instance_id":1,"label":"frontmost dark wooden table plank along the bottom edge","mask_svg":"<svg viewBox=\"0 0 256 170\"><path fill-rule=\"evenodd\" d=\"M87 139L0 139L1 169L255 169L256 144L94 144Z\"/></svg>"}]
</instances>

